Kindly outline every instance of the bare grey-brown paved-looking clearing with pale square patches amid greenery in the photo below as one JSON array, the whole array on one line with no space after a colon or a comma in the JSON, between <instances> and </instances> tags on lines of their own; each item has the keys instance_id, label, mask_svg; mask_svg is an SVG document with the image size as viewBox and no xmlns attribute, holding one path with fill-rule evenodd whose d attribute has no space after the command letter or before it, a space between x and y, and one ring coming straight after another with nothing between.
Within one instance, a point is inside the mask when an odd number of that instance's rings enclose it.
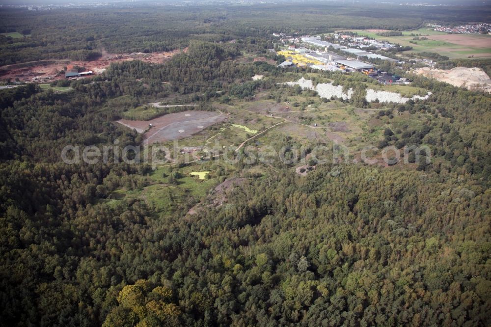
<instances>
[{"instance_id":1,"label":"bare grey-brown paved-looking clearing with pale square patches amid greenery","mask_svg":"<svg viewBox=\"0 0 491 327\"><path fill-rule=\"evenodd\" d=\"M225 120L227 116L220 111L189 110L169 113L152 120L121 119L117 123L144 133L149 143L181 139L196 134L203 129Z\"/></svg>"}]
</instances>

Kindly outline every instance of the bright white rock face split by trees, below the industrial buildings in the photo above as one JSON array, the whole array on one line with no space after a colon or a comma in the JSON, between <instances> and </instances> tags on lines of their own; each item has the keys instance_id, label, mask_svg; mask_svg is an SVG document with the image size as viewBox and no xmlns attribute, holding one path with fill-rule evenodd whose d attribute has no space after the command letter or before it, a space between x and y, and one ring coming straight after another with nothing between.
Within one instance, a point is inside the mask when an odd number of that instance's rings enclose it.
<instances>
[{"instance_id":1,"label":"bright white rock face split by trees, below the industrial buildings","mask_svg":"<svg viewBox=\"0 0 491 327\"><path fill-rule=\"evenodd\" d=\"M302 89L316 90L321 98L329 99L332 96L343 98L345 100L351 99L353 95L353 89L350 88L348 92L343 92L343 86L337 85L334 86L332 83L319 83L316 87L311 80L305 80L303 77L297 82L286 82L285 84L294 86L300 85ZM412 100L426 100L431 95L431 92L428 92L424 97L419 95L413 95L411 98L403 97L399 93L388 92L388 91L376 91L371 88L367 89L366 99L368 102L374 102L376 99L379 102L394 102L394 103L406 103L410 99Z\"/></svg>"}]
</instances>

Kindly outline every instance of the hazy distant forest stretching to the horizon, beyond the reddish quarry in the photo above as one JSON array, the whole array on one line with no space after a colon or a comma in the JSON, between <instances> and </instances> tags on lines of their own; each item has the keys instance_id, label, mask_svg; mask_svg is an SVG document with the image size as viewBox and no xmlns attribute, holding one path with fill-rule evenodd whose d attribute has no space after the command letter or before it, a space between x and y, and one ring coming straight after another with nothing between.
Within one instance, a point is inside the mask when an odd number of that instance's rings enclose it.
<instances>
[{"instance_id":1,"label":"hazy distant forest stretching to the horizon, beyond the reddish quarry","mask_svg":"<svg viewBox=\"0 0 491 327\"><path fill-rule=\"evenodd\" d=\"M52 11L1 8L0 66L39 59L93 59L103 52L132 53L185 48L190 40L211 42L271 38L273 32L309 34L331 28L405 30L425 21L455 24L485 21L489 7L342 6L308 3L231 6L71 8ZM292 19L292 16L294 19ZM56 22L56 24L54 24ZM28 32L28 34L26 34Z\"/></svg>"}]
</instances>

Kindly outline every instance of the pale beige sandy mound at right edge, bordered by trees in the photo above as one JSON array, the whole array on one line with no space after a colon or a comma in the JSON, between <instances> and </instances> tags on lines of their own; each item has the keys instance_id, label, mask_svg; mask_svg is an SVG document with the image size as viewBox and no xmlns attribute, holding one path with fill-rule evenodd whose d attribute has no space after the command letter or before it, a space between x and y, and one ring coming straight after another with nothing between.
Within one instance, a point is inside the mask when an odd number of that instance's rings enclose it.
<instances>
[{"instance_id":1,"label":"pale beige sandy mound at right edge, bordered by trees","mask_svg":"<svg viewBox=\"0 0 491 327\"><path fill-rule=\"evenodd\" d=\"M457 87L462 86L469 90L482 90L491 93L491 79L481 68L456 67L443 70L425 67L416 69L414 72Z\"/></svg>"}]
</instances>

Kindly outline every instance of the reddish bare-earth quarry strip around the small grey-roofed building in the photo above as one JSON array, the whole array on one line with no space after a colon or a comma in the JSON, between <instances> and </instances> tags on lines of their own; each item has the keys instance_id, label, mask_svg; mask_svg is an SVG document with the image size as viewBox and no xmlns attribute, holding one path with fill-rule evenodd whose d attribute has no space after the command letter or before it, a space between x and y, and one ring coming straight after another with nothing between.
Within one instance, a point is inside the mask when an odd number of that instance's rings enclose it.
<instances>
[{"instance_id":1,"label":"reddish bare-earth quarry strip around the small grey-roofed building","mask_svg":"<svg viewBox=\"0 0 491 327\"><path fill-rule=\"evenodd\" d=\"M186 52L188 49L184 49ZM59 72L67 67L68 69L74 66L84 67L85 71L91 70L94 74L101 74L106 70L112 62L142 60L151 63L162 63L171 58L174 54L180 53L180 50L169 52L154 52L149 54L132 53L132 54L108 54L104 53L99 59L92 61L73 61L73 60L40 60L39 64L31 67L18 68L19 64L7 65L0 67L0 79L7 80L18 78L23 82L51 82L53 80L64 79L65 76ZM46 62L48 61L48 62ZM53 62L54 61L54 62ZM33 62L34 64L36 62Z\"/></svg>"}]
</instances>

